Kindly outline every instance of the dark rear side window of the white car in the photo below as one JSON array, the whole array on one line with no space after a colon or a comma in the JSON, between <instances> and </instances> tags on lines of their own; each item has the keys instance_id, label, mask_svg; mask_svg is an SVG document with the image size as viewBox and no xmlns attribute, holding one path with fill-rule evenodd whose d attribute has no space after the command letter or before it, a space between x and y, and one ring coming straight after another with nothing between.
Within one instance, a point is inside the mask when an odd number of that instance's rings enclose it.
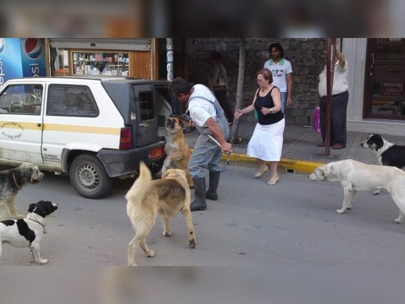
<instances>
[{"instance_id":1,"label":"dark rear side window of the white car","mask_svg":"<svg viewBox=\"0 0 405 304\"><path fill-rule=\"evenodd\" d=\"M47 115L96 117L98 107L86 86L50 86Z\"/></svg>"}]
</instances>

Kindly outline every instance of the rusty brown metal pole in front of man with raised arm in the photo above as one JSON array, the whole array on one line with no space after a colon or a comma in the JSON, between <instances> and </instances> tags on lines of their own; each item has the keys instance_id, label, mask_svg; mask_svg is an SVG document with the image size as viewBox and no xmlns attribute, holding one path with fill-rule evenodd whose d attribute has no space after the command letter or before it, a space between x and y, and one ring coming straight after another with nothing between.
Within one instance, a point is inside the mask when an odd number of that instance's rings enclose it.
<instances>
[{"instance_id":1,"label":"rusty brown metal pole in front of man with raised arm","mask_svg":"<svg viewBox=\"0 0 405 304\"><path fill-rule=\"evenodd\" d=\"M333 49L332 49L333 48ZM326 130L325 130L325 156L331 152L331 108L333 73L335 70L336 38L328 38L326 49ZM331 54L332 53L332 54Z\"/></svg>"}]
</instances>

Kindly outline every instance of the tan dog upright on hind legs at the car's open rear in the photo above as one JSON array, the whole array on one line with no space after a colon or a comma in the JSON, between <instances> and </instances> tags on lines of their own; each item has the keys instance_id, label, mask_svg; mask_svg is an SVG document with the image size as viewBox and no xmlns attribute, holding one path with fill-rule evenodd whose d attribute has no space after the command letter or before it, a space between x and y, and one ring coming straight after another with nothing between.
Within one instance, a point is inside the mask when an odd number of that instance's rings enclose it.
<instances>
[{"instance_id":1,"label":"tan dog upright on hind legs at the car's open rear","mask_svg":"<svg viewBox=\"0 0 405 304\"><path fill-rule=\"evenodd\" d=\"M181 169L186 173L187 183L190 188L194 187L193 179L188 173L188 162L191 152L183 134L184 123L178 117L169 117L165 129L165 153L167 155L161 172L168 169Z\"/></svg>"}]
</instances>

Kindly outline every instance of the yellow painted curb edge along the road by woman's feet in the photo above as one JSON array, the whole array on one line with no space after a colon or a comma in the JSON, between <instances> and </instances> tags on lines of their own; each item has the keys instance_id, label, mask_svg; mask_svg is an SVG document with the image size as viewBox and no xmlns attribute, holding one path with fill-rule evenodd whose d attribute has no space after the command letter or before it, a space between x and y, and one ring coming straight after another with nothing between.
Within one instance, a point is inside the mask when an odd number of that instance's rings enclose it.
<instances>
[{"instance_id":1,"label":"yellow painted curb edge along the road by woman's feet","mask_svg":"<svg viewBox=\"0 0 405 304\"><path fill-rule=\"evenodd\" d=\"M192 149L190 149L192 151ZM228 160L226 155L222 156L222 160ZM231 155L231 161L240 161L240 162L256 162L255 158L252 158L246 154L235 153ZM299 174L310 174L315 168L324 163L317 162L307 162L307 161L297 161L290 159L281 159L278 165L284 169L285 172L289 173L299 173Z\"/></svg>"}]
</instances>

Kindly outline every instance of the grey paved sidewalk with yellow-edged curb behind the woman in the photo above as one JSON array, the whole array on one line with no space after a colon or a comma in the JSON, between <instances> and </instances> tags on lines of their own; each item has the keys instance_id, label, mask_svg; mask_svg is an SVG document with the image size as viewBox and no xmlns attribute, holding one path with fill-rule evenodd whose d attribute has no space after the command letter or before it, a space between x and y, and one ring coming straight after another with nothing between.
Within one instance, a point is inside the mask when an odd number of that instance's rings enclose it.
<instances>
[{"instance_id":1,"label":"grey paved sidewalk with yellow-edged curb behind the woman","mask_svg":"<svg viewBox=\"0 0 405 304\"><path fill-rule=\"evenodd\" d=\"M238 137L241 137L243 142L233 145L234 154L231 156L231 165L256 166L255 159L247 155L248 142L255 125L256 122L239 122ZM375 133L378 133L378 130ZM194 147L198 135L197 130L185 134L191 149ZM345 159L377 165L378 162L372 150L360 147L360 142L366 140L369 135L370 133L347 131L346 148L335 150L331 147L330 156L326 157L325 147L316 146L322 138L312 129L312 126L286 125L279 171L308 174L320 164ZM381 135L387 141L405 145L405 136Z\"/></svg>"}]
</instances>

